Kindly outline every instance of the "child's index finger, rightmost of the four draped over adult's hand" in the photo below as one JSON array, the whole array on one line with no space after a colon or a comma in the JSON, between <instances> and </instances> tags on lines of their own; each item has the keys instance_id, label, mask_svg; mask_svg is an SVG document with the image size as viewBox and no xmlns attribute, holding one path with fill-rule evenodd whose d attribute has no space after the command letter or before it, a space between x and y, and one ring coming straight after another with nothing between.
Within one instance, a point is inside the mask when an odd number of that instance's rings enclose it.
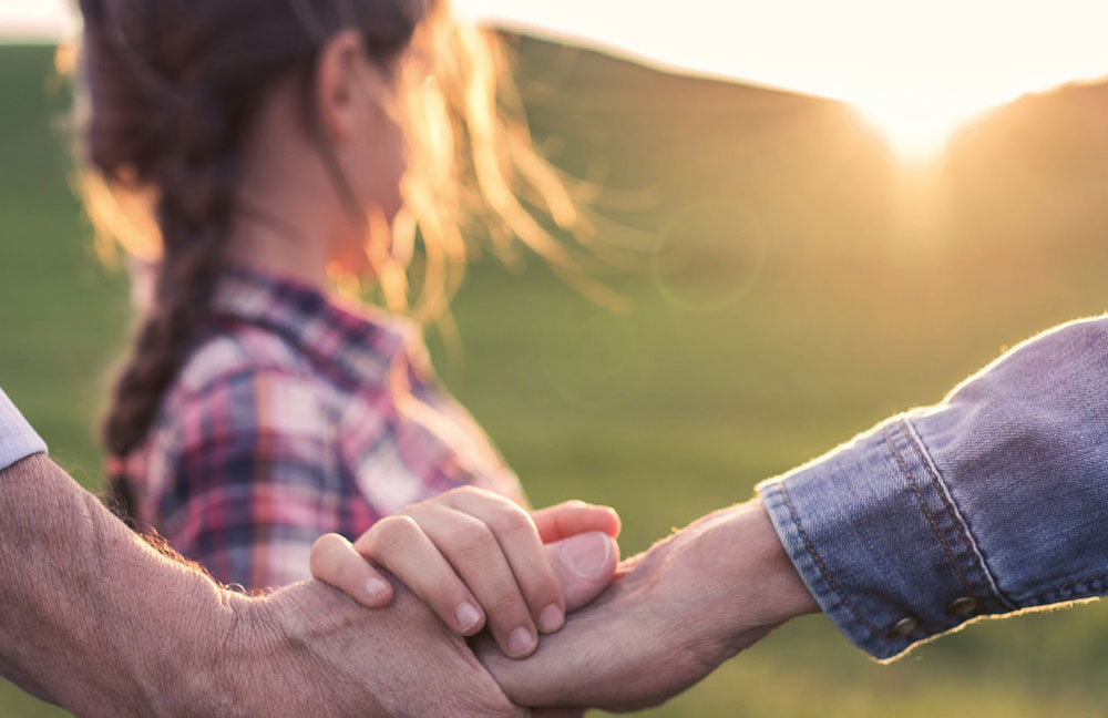
<instances>
[{"instance_id":1,"label":"child's index finger, rightmost of the four draped over adult's hand","mask_svg":"<svg viewBox=\"0 0 1108 718\"><path fill-rule=\"evenodd\" d=\"M543 542L526 511L486 491L458 491L443 496L454 509L482 521L492 531L515 576L515 583L543 633L565 623L562 583L546 557Z\"/></svg>"}]
</instances>

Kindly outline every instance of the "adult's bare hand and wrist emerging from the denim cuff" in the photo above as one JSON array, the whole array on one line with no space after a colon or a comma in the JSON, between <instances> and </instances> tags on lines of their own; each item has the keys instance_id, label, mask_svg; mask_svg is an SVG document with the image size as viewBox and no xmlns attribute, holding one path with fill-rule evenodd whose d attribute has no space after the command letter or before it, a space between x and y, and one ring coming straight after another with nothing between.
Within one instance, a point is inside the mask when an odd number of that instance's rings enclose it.
<instances>
[{"instance_id":1,"label":"adult's bare hand and wrist emerging from the denim cuff","mask_svg":"<svg viewBox=\"0 0 1108 718\"><path fill-rule=\"evenodd\" d=\"M665 701L790 617L818 611L759 500L624 562L530 658L478 655L522 706L634 710Z\"/></svg>"}]
</instances>

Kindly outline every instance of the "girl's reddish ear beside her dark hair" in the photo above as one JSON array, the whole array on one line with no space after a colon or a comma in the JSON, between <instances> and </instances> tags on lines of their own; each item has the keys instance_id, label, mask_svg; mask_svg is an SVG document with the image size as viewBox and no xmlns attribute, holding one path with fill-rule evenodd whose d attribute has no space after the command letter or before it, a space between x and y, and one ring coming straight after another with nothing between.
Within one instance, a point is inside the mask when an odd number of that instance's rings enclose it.
<instances>
[{"instance_id":1,"label":"girl's reddish ear beside her dark hair","mask_svg":"<svg viewBox=\"0 0 1108 718\"><path fill-rule=\"evenodd\" d=\"M335 144L348 140L360 123L356 88L367 62L362 37L356 30L337 33L319 53L316 64L316 116L320 130Z\"/></svg>"}]
</instances>

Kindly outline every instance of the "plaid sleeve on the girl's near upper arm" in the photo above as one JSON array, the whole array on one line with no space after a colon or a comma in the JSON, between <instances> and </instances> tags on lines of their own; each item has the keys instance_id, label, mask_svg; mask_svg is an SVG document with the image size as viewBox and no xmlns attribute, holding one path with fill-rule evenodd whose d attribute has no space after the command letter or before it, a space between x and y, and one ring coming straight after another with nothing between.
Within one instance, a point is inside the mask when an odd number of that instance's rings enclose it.
<instances>
[{"instance_id":1,"label":"plaid sleeve on the girl's near upper arm","mask_svg":"<svg viewBox=\"0 0 1108 718\"><path fill-rule=\"evenodd\" d=\"M154 527L228 585L309 578L311 545L336 530L342 496L318 390L252 370L181 398L168 413L148 463Z\"/></svg>"}]
</instances>

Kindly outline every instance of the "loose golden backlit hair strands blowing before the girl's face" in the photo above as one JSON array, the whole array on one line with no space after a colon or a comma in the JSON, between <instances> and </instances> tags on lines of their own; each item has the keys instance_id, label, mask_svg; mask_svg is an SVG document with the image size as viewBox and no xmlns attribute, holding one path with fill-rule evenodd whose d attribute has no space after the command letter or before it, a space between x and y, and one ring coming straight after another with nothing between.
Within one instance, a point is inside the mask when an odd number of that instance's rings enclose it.
<instances>
[{"instance_id":1,"label":"loose golden backlit hair strands blowing before the girl's face","mask_svg":"<svg viewBox=\"0 0 1108 718\"><path fill-rule=\"evenodd\" d=\"M486 237L505 265L517 264L522 245L583 294L618 304L581 271L573 246L536 220L536 214L553 220L577 242L593 238L581 211L585 185L567 181L535 150L504 43L448 12L438 8L417 30L412 61L402 69L399 120L411 152L406 211L393 223L390 253L380 254L388 245L373 238L367 245L382 299L449 330L447 307L476 248L473 238ZM418 293L411 276L420 278Z\"/></svg>"}]
</instances>

